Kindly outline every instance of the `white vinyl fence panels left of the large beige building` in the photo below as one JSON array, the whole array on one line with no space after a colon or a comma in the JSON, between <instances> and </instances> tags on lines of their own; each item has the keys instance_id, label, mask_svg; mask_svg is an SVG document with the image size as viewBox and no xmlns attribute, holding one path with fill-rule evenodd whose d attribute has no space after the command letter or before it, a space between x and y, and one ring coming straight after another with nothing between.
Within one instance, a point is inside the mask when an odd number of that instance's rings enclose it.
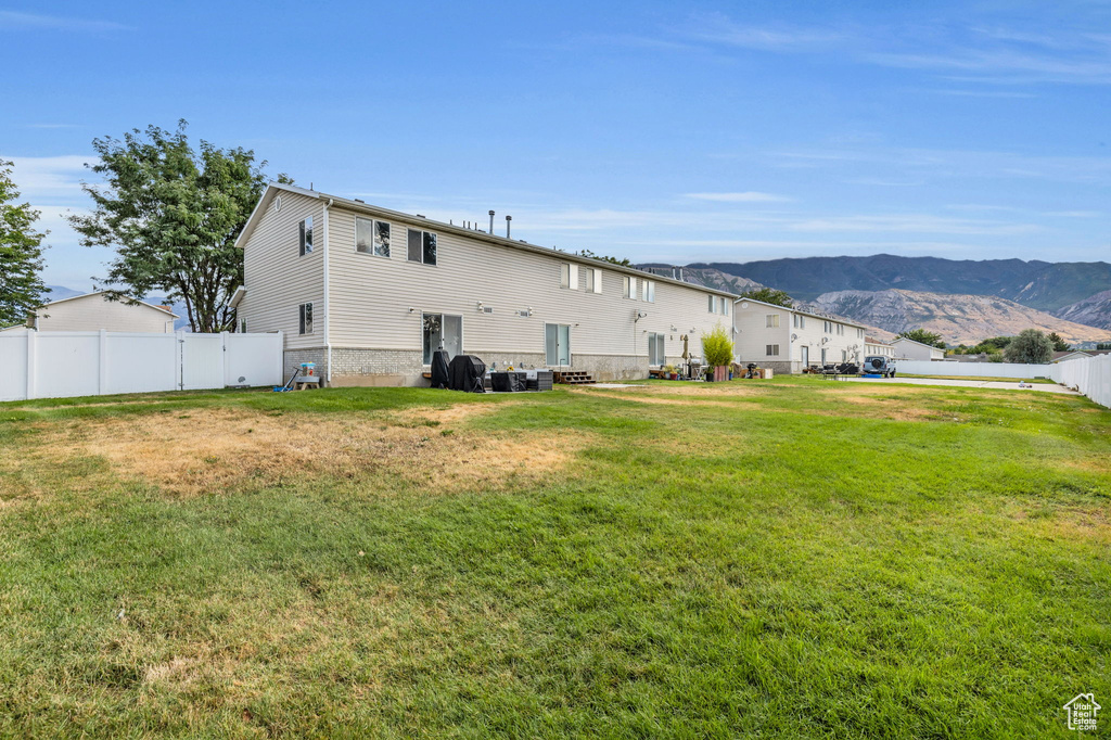
<instances>
[{"instance_id":1,"label":"white vinyl fence panels left of the large beige building","mask_svg":"<svg viewBox=\"0 0 1111 740\"><path fill-rule=\"evenodd\" d=\"M284 382L281 333L0 333L0 401Z\"/></svg>"}]
</instances>

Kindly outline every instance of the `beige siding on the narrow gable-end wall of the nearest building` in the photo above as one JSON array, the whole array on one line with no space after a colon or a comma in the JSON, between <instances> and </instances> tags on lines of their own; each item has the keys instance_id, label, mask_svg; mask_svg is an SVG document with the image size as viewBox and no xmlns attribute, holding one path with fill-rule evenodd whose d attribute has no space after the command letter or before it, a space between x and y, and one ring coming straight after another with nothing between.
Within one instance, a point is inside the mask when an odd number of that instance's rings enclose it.
<instances>
[{"instance_id":1,"label":"beige siding on the narrow gable-end wall of the nearest building","mask_svg":"<svg viewBox=\"0 0 1111 740\"><path fill-rule=\"evenodd\" d=\"M271 196L263 203L266 210L258 226L243 244L247 294L239 304L238 317L247 319L250 332L284 332L287 349L323 347L323 203L294 192L278 191L278 194L282 200L281 210L273 210ZM309 216L313 228L312 252L301 257L298 224ZM311 334L298 333L301 303L312 303Z\"/></svg>"}]
</instances>

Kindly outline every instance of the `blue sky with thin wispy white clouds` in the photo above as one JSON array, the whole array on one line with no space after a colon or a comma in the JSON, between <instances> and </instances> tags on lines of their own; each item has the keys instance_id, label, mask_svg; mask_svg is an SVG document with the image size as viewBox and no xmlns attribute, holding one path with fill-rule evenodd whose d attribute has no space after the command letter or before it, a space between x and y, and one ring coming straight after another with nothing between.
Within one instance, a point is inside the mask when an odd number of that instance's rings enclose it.
<instances>
[{"instance_id":1,"label":"blue sky with thin wispy white clouds","mask_svg":"<svg viewBox=\"0 0 1111 740\"><path fill-rule=\"evenodd\" d=\"M94 137L188 119L298 184L637 261L1111 259L1111 3L0 0L47 280Z\"/></svg>"}]
</instances>

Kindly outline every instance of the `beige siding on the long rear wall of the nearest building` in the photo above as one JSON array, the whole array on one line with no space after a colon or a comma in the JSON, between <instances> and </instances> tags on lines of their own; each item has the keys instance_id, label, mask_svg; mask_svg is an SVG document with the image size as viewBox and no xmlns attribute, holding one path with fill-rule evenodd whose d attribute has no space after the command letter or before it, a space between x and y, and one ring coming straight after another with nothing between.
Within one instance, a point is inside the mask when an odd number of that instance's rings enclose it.
<instances>
[{"instance_id":1,"label":"beige siding on the long rear wall of the nearest building","mask_svg":"<svg viewBox=\"0 0 1111 740\"><path fill-rule=\"evenodd\" d=\"M363 214L359 214L363 216ZM701 332L728 318L707 313L707 294L655 280L655 300L622 297L625 273L599 267L601 292L588 292L588 266L563 252L534 253L509 246L438 231L420 219L390 222L389 259L356 251L356 217L333 208L329 214L331 340L334 347L420 349L421 313L463 318L463 350L543 352L544 324L571 324L573 354L647 356L648 333L667 334L665 351L678 358L679 336L692 328L691 348L701 353ZM363 216L364 217L364 216ZM366 218L366 217L364 217ZM408 228L438 234L436 266L406 259ZM561 263L579 266L579 288L560 287ZM590 266L594 267L594 266ZM493 309L483 313L478 308ZM409 308L416 309L412 313ZM531 307L531 317L517 312ZM637 311L648 313L638 323ZM671 327L675 330L672 331ZM572 358L573 361L573 358Z\"/></svg>"}]
</instances>

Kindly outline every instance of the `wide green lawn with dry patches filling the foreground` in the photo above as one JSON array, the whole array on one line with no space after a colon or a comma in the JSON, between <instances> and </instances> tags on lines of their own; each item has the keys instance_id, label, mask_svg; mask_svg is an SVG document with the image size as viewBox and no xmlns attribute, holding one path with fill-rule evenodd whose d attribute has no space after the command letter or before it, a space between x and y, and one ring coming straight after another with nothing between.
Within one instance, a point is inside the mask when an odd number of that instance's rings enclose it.
<instances>
[{"instance_id":1,"label":"wide green lawn with dry patches filling the foreground","mask_svg":"<svg viewBox=\"0 0 1111 740\"><path fill-rule=\"evenodd\" d=\"M0 736L1077 737L1109 432L809 378L0 403Z\"/></svg>"}]
</instances>

